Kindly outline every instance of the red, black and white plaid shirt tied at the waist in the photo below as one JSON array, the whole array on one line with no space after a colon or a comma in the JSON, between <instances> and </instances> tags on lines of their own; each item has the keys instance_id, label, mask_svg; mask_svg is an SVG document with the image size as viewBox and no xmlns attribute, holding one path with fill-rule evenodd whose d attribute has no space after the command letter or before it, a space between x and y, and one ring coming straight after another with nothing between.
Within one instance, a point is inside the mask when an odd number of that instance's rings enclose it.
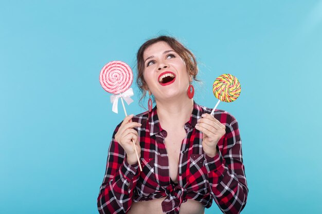
<instances>
[{"instance_id":1,"label":"red, black and white plaid shirt tied at the waist","mask_svg":"<svg viewBox=\"0 0 322 214\"><path fill-rule=\"evenodd\" d=\"M167 131L160 126L156 107L133 117L142 126L135 128L141 146L141 166L129 165L126 153L115 141L116 127L109 148L108 162L100 187L99 213L126 213L133 202L165 198L162 209L179 213L181 203L192 199L210 207L212 199L223 213L240 213L247 199L247 182L242 159L241 139L234 116L216 110L214 118L226 126L226 134L217 144L218 154L210 158L202 148L203 133L194 128L203 113L211 109L194 103L190 120L185 124L178 183L169 177L168 154L165 146Z\"/></svg>"}]
</instances>

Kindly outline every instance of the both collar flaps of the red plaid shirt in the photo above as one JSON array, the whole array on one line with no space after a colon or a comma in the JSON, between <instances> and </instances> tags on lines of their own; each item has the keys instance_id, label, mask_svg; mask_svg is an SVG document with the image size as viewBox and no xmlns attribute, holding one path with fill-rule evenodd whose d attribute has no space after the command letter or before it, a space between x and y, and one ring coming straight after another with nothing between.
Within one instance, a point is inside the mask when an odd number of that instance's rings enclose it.
<instances>
[{"instance_id":1,"label":"both collar flaps of the red plaid shirt","mask_svg":"<svg viewBox=\"0 0 322 214\"><path fill-rule=\"evenodd\" d=\"M205 107L196 104L193 101L193 109L189 121L185 124L185 128L194 128L197 121L201 118L201 115L205 112ZM149 131L150 136L155 135L163 131L160 126L159 118L156 113L156 106L149 112Z\"/></svg>"}]
</instances>

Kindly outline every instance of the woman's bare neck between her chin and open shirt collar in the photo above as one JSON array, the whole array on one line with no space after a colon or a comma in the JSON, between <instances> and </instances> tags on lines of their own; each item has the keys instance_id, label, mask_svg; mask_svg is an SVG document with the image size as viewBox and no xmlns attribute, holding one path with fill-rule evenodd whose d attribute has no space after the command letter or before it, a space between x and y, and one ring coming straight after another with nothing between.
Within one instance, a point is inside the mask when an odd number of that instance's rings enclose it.
<instances>
[{"instance_id":1,"label":"woman's bare neck between her chin and open shirt collar","mask_svg":"<svg viewBox=\"0 0 322 214\"><path fill-rule=\"evenodd\" d=\"M156 102L158 119L163 128L183 126L189 121L193 110L193 99Z\"/></svg>"}]
</instances>

